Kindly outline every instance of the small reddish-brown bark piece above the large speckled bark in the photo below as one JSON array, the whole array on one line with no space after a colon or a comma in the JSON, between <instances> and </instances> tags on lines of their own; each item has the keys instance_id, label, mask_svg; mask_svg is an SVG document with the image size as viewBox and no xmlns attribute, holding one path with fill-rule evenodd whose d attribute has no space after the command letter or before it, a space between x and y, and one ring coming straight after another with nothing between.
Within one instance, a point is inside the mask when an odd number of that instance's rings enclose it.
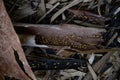
<instances>
[{"instance_id":1,"label":"small reddish-brown bark piece above the large speckled bark","mask_svg":"<svg viewBox=\"0 0 120 80\"><path fill-rule=\"evenodd\" d=\"M89 22L100 24L100 25L105 25L105 22L110 20L110 18L99 16L84 10L69 9L68 11L75 14L77 18L81 18L83 20L87 20Z\"/></svg>"}]
</instances>

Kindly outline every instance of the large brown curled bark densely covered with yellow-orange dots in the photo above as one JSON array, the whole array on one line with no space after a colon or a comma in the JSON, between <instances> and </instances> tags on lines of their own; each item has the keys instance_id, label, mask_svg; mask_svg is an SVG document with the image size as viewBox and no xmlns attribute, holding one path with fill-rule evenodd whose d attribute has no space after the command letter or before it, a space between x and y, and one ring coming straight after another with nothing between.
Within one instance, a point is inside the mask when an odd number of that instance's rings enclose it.
<instances>
[{"instance_id":1,"label":"large brown curled bark densely covered with yellow-orange dots","mask_svg":"<svg viewBox=\"0 0 120 80\"><path fill-rule=\"evenodd\" d=\"M98 45L104 41L102 33L105 29L86 28L72 24L37 26L18 24L16 26L19 31L21 29L36 35L37 44L70 46L84 51L98 49Z\"/></svg>"}]
</instances>

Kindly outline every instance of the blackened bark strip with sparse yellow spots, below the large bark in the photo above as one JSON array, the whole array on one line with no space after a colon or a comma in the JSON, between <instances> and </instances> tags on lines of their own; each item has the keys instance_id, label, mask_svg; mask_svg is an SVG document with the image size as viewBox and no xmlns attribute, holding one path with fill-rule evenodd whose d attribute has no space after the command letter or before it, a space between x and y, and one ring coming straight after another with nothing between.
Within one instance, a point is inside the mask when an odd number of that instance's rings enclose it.
<instances>
[{"instance_id":1,"label":"blackened bark strip with sparse yellow spots, below the large bark","mask_svg":"<svg viewBox=\"0 0 120 80\"><path fill-rule=\"evenodd\" d=\"M77 59L46 59L39 58L37 60L29 60L29 64L33 71L37 70L63 70L63 69L80 69L86 67L85 60ZM85 70L86 68L84 68ZM82 70L82 68L81 68Z\"/></svg>"}]
</instances>

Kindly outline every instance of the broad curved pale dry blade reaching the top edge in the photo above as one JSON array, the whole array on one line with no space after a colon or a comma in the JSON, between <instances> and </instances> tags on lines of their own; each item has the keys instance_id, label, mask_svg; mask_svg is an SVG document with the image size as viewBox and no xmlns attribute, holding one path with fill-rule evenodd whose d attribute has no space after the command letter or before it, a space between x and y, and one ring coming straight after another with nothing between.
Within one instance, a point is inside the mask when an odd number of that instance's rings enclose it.
<instances>
[{"instance_id":1,"label":"broad curved pale dry blade reaching the top edge","mask_svg":"<svg viewBox=\"0 0 120 80\"><path fill-rule=\"evenodd\" d=\"M53 22L60 14L62 14L65 10L69 9L70 7L73 7L77 4L79 4L80 2L83 2L83 0L73 0L73 2L71 2L70 4L68 4L67 6L63 7L62 9L60 9L58 12L56 12L52 18L51 18L51 22Z\"/></svg>"}]
</instances>

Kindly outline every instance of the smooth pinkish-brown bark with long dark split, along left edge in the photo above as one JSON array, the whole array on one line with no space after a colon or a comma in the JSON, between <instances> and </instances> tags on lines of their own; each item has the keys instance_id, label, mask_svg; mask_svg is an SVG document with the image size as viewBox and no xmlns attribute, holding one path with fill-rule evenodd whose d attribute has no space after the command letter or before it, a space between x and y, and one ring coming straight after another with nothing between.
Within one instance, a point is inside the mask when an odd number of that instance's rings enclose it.
<instances>
[{"instance_id":1,"label":"smooth pinkish-brown bark with long dark split, along left edge","mask_svg":"<svg viewBox=\"0 0 120 80\"><path fill-rule=\"evenodd\" d=\"M0 80L36 80L0 0Z\"/></svg>"}]
</instances>

